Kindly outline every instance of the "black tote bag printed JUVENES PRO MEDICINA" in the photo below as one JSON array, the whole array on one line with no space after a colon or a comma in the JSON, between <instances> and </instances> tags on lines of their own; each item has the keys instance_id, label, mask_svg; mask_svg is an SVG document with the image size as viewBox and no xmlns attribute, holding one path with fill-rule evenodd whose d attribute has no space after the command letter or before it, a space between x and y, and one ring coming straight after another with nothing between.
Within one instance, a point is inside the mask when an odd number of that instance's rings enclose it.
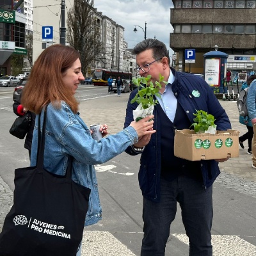
<instances>
[{"instance_id":1,"label":"black tote bag printed JUVENES PRO MEDICINA","mask_svg":"<svg viewBox=\"0 0 256 256\"><path fill-rule=\"evenodd\" d=\"M15 170L13 206L0 234L1 256L72 256L83 238L90 189L71 179L70 156L65 176L44 170L45 122L46 109L36 166Z\"/></svg>"}]
</instances>

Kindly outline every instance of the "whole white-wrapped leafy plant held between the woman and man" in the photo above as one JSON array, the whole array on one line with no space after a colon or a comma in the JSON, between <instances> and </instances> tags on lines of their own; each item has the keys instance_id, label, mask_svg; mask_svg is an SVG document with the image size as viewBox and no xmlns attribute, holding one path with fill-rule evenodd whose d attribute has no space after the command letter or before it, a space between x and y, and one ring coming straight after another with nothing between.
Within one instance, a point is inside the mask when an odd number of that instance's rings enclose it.
<instances>
[{"instance_id":1,"label":"whole white-wrapped leafy plant held between the woman and man","mask_svg":"<svg viewBox=\"0 0 256 256\"><path fill-rule=\"evenodd\" d=\"M159 74L159 81L156 81L155 84L153 84L150 79L151 75L132 79L132 83L138 87L138 92L131 100L131 103L137 102L139 104L133 111L133 118L136 121L145 116L152 115L154 106L158 103L157 99L154 99L154 95L161 97L159 93L159 90L162 88L161 83L168 83L163 81L164 77L161 76L161 74Z\"/></svg>"}]
</instances>

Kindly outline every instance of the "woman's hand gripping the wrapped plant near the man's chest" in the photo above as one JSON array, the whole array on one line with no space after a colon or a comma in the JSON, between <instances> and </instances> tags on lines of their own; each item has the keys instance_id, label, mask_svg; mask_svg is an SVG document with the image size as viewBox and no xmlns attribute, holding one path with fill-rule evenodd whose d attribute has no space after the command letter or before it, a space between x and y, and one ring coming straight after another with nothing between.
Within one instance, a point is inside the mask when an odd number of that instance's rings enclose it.
<instances>
[{"instance_id":1,"label":"woman's hand gripping the wrapped plant near the man's chest","mask_svg":"<svg viewBox=\"0 0 256 256\"><path fill-rule=\"evenodd\" d=\"M156 130L153 130L154 121L149 121L152 118L154 118L154 115L147 116L138 122L131 122L130 126L136 130L139 138L144 135L150 135L156 132Z\"/></svg>"}]
</instances>

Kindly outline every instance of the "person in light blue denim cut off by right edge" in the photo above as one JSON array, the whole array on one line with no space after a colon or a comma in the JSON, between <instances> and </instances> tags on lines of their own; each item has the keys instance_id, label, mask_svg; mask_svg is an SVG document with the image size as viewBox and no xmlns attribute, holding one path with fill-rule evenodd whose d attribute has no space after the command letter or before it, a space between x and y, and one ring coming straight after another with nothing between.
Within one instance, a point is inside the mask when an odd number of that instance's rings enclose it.
<instances>
[{"instance_id":1,"label":"person in light blue denim cut off by right edge","mask_svg":"<svg viewBox=\"0 0 256 256\"><path fill-rule=\"evenodd\" d=\"M253 138L252 138L252 168L256 169L256 79L252 81L247 92L247 109L249 118L252 122Z\"/></svg>"}]
</instances>

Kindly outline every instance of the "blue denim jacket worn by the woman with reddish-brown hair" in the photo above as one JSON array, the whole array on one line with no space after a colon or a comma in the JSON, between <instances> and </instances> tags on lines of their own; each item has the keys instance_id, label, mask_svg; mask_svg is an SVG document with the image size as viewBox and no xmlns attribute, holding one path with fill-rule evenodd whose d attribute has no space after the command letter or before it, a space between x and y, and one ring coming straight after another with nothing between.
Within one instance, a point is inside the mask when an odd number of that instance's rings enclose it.
<instances>
[{"instance_id":1,"label":"blue denim jacket worn by the woman with reddish-brown hair","mask_svg":"<svg viewBox=\"0 0 256 256\"><path fill-rule=\"evenodd\" d=\"M41 115L41 130L44 120L44 109ZM85 225L92 225L102 219L102 208L96 173L93 164L101 164L124 152L138 141L138 134L131 126L117 134L93 140L90 129L84 124L79 114L74 114L70 107L61 102L57 109L49 104L45 126L44 168L58 175L65 175L68 155L74 157L72 163L72 180L91 189L89 208ZM36 165L38 144L38 115L36 115L31 166Z\"/></svg>"}]
</instances>

